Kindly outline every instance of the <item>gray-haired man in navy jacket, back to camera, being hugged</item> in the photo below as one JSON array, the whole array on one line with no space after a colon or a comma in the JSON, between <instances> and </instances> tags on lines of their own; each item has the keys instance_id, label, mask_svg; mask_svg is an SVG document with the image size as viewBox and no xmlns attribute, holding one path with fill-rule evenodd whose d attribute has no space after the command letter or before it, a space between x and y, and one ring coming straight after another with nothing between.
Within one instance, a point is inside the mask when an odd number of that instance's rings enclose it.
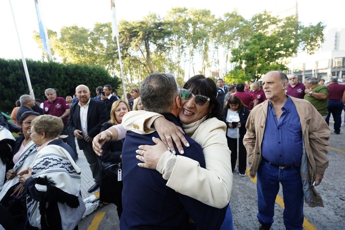
<instances>
[{"instance_id":1,"label":"gray-haired man in navy jacket, back to camera, being hugged","mask_svg":"<svg viewBox=\"0 0 345 230\"><path fill-rule=\"evenodd\" d=\"M142 82L140 94L147 111L159 112L181 127L177 119L180 108L179 92L172 74L150 74ZM152 144L152 137L159 138L159 135L157 132L141 135L132 131L126 134L122 148L124 169L122 193L126 196L122 197L123 212L120 228L123 230L193 229L189 228L190 216L199 229L219 229L225 217L225 209L210 207L182 195L167 187L167 181L158 171L140 168L137 165L141 161L136 158L135 151L141 144ZM190 146L184 148L183 156L198 161L200 167L205 168L200 145L187 135L185 138Z\"/></svg>"}]
</instances>

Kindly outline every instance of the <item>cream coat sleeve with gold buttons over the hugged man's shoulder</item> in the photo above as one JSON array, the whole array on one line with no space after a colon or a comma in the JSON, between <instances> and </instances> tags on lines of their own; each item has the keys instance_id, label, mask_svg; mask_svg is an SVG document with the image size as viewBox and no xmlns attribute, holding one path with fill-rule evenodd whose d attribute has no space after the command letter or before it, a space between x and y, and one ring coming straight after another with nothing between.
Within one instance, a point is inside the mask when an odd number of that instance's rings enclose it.
<instances>
[{"instance_id":1,"label":"cream coat sleeve with gold buttons over the hugged man's shoulder","mask_svg":"<svg viewBox=\"0 0 345 230\"><path fill-rule=\"evenodd\" d=\"M127 131L133 131L139 134L149 134L154 132L154 129L149 129L145 126L145 122L149 121L152 124L152 117L158 118L163 115L155 112L147 112L145 110L130 111L122 118L122 126Z\"/></svg>"}]
</instances>

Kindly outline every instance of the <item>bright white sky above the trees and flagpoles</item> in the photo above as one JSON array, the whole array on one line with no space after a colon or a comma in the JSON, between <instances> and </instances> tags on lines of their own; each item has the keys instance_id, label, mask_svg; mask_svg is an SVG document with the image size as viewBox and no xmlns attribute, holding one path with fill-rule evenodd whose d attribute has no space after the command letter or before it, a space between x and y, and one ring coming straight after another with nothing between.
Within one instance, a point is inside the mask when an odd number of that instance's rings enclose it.
<instances>
[{"instance_id":1,"label":"bright white sky above the trees and flagpoles","mask_svg":"<svg viewBox=\"0 0 345 230\"><path fill-rule=\"evenodd\" d=\"M47 28L59 31L62 26L77 24L79 27L93 28L95 22L111 21L110 0L40 0L43 20ZM17 23L23 55L33 60L41 60L41 50L33 40L33 31L38 30L38 20L34 0L1 0L0 1L0 58L20 59L17 32L11 13L12 4ZM344 27L341 17L345 9L344 0L299 0L298 18L305 25L324 22L327 29ZM173 7L208 9L216 17L235 8L246 19L264 10L273 14L294 6L294 0L125 0L117 1L117 20L140 20L149 12L165 16Z\"/></svg>"}]
</instances>

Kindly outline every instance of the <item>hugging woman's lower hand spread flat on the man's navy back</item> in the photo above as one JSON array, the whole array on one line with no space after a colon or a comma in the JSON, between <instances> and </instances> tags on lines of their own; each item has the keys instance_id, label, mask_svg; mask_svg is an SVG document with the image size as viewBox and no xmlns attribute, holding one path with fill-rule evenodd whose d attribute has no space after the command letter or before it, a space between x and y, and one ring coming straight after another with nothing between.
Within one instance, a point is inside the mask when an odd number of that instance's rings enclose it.
<instances>
[{"instance_id":1,"label":"hugging woman's lower hand spread flat on the man's navy back","mask_svg":"<svg viewBox=\"0 0 345 230\"><path fill-rule=\"evenodd\" d=\"M165 144L159 138L152 137L152 141L156 143L154 146L141 145L135 152L138 154L138 160L144 163L138 163L139 167L148 169L157 169L160 157L167 151Z\"/></svg>"}]
</instances>

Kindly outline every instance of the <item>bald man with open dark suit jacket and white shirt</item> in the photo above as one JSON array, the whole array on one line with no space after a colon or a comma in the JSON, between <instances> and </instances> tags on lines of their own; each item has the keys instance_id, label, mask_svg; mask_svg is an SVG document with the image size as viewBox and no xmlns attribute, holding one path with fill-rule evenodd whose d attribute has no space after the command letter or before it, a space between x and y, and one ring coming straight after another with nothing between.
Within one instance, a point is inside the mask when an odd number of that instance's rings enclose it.
<instances>
[{"instance_id":1,"label":"bald man with open dark suit jacket and white shirt","mask_svg":"<svg viewBox=\"0 0 345 230\"><path fill-rule=\"evenodd\" d=\"M79 149L83 150L90 164L95 184L88 190L93 192L99 187L101 161L92 150L92 139L99 133L101 126L107 122L107 108L105 103L90 99L90 90L85 85L76 88L79 100L70 109L67 127L77 138Z\"/></svg>"}]
</instances>

